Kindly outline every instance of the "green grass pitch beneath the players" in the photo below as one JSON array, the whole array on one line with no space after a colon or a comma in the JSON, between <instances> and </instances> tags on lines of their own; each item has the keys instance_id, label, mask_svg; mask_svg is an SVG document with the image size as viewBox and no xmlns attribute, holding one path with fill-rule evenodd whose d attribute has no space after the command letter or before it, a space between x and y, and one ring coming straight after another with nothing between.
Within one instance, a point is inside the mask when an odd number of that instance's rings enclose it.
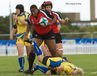
<instances>
[{"instance_id":1,"label":"green grass pitch beneath the players","mask_svg":"<svg viewBox=\"0 0 97 76\"><path fill-rule=\"evenodd\" d=\"M97 76L97 54L95 55L67 55L73 64L84 69L83 76ZM19 73L18 57L0 56L0 76L32 76ZM26 59L26 57L25 57ZM27 59L25 60L25 69L27 68ZM37 59L36 63L40 64ZM34 76L45 76L40 71L36 71ZM54 75L52 75L54 76ZM78 76L78 75L77 75Z\"/></svg>"}]
</instances>

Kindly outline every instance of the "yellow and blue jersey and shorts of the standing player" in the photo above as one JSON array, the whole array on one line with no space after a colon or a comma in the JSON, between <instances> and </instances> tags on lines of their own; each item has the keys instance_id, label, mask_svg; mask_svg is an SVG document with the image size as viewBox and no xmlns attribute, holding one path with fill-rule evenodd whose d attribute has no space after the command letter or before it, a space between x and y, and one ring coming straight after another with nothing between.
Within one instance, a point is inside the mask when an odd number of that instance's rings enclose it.
<instances>
[{"instance_id":1,"label":"yellow and blue jersey and shorts of the standing player","mask_svg":"<svg viewBox=\"0 0 97 76\"><path fill-rule=\"evenodd\" d=\"M28 19L29 14L24 12L22 15L19 15L18 18L21 20L26 21ZM14 25L17 26L17 34L16 34L16 44L17 43L22 43L27 45L30 45L30 43L24 42L24 35L26 33L27 25L22 24L20 21L14 21ZM32 39L32 34L29 32L28 38Z\"/></svg>"}]
</instances>

